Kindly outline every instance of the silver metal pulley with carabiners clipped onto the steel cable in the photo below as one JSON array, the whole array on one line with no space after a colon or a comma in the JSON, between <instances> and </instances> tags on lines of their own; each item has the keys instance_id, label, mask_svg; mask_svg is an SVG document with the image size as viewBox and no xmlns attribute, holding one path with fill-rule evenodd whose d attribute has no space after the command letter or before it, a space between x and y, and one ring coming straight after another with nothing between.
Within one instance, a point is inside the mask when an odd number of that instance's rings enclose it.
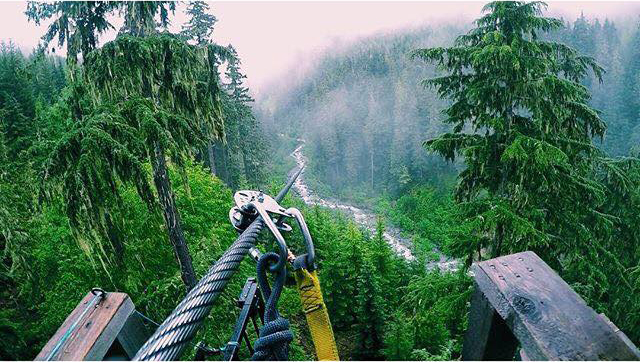
<instances>
[{"instance_id":1,"label":"silver metal pulley with carabiners clipped onto the steel cable","mask_svg":"<svg viewBox=\"0 0 640 362\"><path fill-rule=\"evenodd\" d=\"M271 269L273 271L284 267L288 257L287 244L281 234L281 231L289 232L292 230L291 226L284 222L286 218L294 218L298 223L307 249L307 265L311 269L314 268L315 249L313 240L300 210L296 208L285 209L274 198L262 191L238 191L233 195L233 200L236 206L229 210L229 220L231 220L231 224L238 232L243 232L256 217L260 216L278 242L280 260L278 264L272 265Z\"/></svg>"}]
</instances>

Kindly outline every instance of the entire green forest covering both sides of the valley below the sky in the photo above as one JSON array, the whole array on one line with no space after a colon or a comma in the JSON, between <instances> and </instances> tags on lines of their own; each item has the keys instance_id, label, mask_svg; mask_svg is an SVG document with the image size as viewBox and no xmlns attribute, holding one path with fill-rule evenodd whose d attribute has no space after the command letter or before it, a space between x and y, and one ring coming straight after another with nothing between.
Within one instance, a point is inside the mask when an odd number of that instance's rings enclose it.
<instances>
[{"instance_id":1,"label":"entire green forest covering both sides of the valley below the sky","mask_svg":"<svg viewBox=\"0 0 640 362\"><path fill-rule=\"evenodd\" d=\"M640 343L637 19L490 3L474 23L330 49L256 102L237 50L214 41L215 7L189 2L170 32L178 11L30 2L24 16L50 24L41 46L0 46L1 359L33 359L92 287L162 321L236 238L233 192L276 193L302 142L313 190L379 216L372 233L282 201L309 224L342 359L458 359L469 266L523 250ZM439 253L461 267L425 268ZM229 340L246 259L182 358ZM279 310L289 358L314 359L293 288Z\"/></svg>"}]
</instances>

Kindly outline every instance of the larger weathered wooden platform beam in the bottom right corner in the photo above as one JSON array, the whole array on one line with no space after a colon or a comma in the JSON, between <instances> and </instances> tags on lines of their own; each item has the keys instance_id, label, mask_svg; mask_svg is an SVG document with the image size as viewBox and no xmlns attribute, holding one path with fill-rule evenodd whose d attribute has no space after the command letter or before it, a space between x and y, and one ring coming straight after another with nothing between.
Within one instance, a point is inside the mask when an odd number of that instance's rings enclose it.
<instances>
[{"instance_id":1,"label":"larger weathered wooden platform beam in the bottom right corner","mask_svg":"<svg viewBox=\"0 0 640 362\"><path fill-rule=\"evenodd\" d=\"M535 253L472 266L464 360L640 360L638 348Z\"/></svg>"}]
</instances>

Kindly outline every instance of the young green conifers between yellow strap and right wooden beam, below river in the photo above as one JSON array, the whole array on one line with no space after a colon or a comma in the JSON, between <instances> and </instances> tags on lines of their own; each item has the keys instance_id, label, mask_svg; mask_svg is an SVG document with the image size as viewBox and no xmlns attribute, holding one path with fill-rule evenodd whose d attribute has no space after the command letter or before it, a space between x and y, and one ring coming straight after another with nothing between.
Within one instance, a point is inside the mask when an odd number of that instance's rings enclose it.
<instances>
[{"instance_id":1,"label":"young green conifers between yellow strap and right wooden beam, below river","mask_svg":"<svg viewBox=\"0 0 640 362\"><path fill-rule=\"evenodd\" d=\"M369 237L339 213L305 206L302 211L314 236L341 358L414 359L416 349L438 355L446 348L459 356L470 290L464 272L426 273L422 264L407 263L383 239L382 220ZM301 244L290 241L294 252ZM440 337L419 338L430 333L425 329ZM450 345L450 338L456 342Z\"/></svg>"}]
</instances>

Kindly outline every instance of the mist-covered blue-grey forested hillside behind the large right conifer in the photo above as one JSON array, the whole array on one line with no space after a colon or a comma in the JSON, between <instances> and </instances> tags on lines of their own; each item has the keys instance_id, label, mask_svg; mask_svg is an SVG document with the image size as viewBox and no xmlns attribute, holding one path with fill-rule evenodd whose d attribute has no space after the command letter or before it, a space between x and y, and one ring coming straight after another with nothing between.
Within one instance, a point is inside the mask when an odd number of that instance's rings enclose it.
<instances>
[{"instance_id":1,"label":"mist-covered blue-grey forested hillside behind the large right conifer","mask_svg":"<svg viewBox=\"0 0 640 362\"><path fill-rule=\"evenodd\" d=\"M638 24L584 16L565 22L565 29L544 36L594 57L606 70L602 84L593 76L583 82L608 125L602 142L596 141L611 155L628 155L640 144ZM357 199L399 196L425 181L439 184L455 165L430 155L422 143L447 130L441 115L446 101L421 84L438 74L435 68L409 53L451 45L464 26L427 27L331 49L294 87L269 99L275 106L260 117L274 134L284 130L308 141L305 152L320 190L328 186Z\"/></svg>"}]
</instances>

